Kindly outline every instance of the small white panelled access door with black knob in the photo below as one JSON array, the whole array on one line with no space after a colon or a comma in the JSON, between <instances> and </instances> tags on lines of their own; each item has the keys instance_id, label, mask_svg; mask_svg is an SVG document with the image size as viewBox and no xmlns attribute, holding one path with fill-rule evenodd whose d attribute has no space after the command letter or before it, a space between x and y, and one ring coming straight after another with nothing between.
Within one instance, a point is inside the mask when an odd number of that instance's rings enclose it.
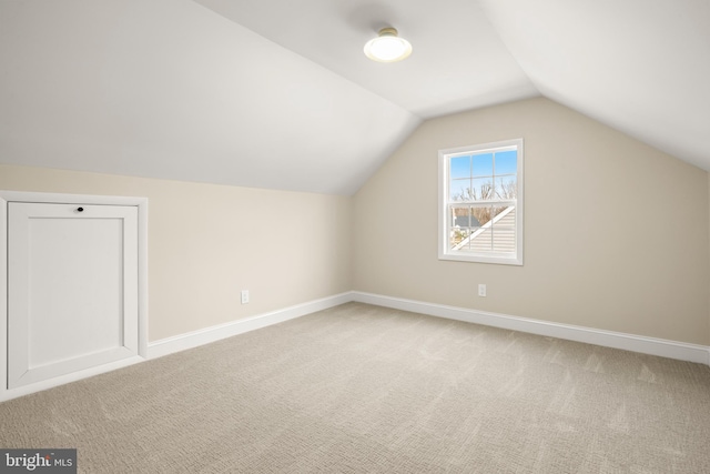
<instances>
[{"instance_id":1,"label":"small white panelled access door with black knob","mask_svg":"<svg viewBox=\"0 0 710 474\"><path fill-rule=\"evenodd\" d=\"M8 389L138 354L138 208L8 202Z\"/></svg>"}]
</instances>

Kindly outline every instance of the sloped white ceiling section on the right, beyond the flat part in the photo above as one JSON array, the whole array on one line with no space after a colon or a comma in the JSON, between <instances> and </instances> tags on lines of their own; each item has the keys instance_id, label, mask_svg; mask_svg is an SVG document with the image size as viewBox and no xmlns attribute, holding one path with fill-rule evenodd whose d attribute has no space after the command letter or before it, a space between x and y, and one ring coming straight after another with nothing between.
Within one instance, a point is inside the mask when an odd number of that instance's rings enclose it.
<instances>
[{"instance_id":1,"label":"sloped white ceiling section on the right, beyond the flat part","mask_svg":"<svg viewBox=\"0 0 710 474\"><path fill-rule=\"evenodd\" d=\"M710 1L479 3L542 95L710 171Z\"/></svg>"}]
</instances>

